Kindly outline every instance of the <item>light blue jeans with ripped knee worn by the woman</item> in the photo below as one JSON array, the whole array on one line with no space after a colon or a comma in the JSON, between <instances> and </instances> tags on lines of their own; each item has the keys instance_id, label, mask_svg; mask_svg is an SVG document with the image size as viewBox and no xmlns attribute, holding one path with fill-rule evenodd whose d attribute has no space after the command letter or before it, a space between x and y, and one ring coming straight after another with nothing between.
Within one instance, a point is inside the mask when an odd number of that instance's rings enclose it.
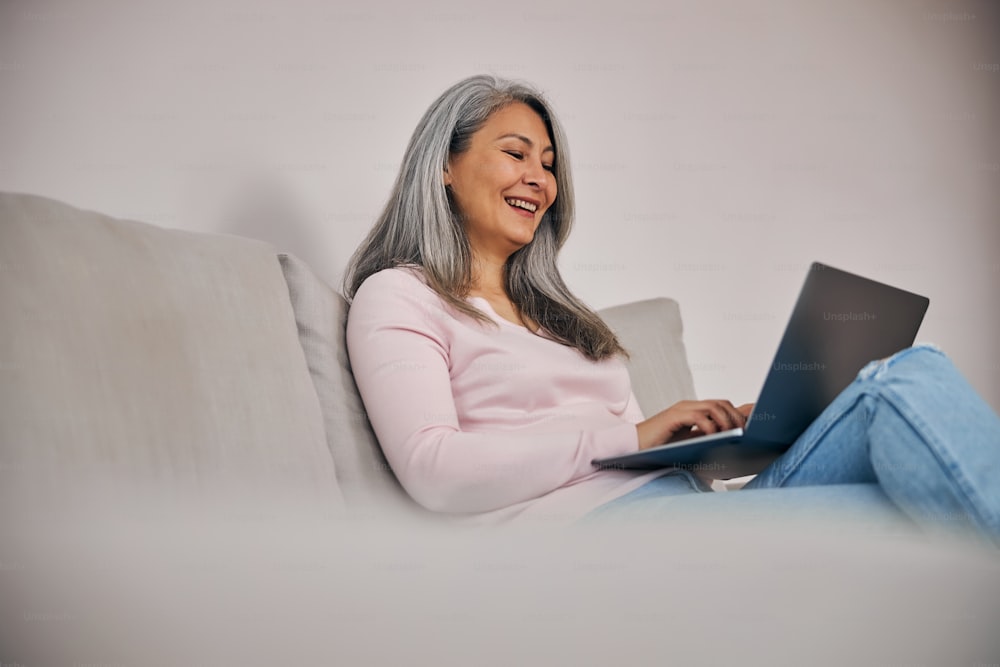
<instances>
[{"instance_id":1,"label":"light blue jeans with ripped knee worn by the woman","mask_svg":"<svg viewBox=\"0 0 1000 667\"><path fill-rule=\"evenodd\" d=\"M709 491L676 470L583 521L663 518L700 505L885 525L912 521L971 529L1000 545L1000 417L940 350L917 345L865 366L742 490Z\"/></svg>"}]
</instances>

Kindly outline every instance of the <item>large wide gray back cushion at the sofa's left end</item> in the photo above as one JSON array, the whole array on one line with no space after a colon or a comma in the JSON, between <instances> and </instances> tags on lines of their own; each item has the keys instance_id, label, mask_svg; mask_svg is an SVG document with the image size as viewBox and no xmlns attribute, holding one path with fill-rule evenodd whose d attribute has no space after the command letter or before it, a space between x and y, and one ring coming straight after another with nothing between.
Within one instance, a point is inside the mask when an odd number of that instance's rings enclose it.
<instances>
[{"instance_id":1,"label":"large wide gray back cushion at the sofa's left end","mask_svg":"<svg viewBox=\"0 0 1000 667\"><path fill-rule=\"evenodd\" d=\"M271 246L0 194L0 273L4 482L342 507Z\"/></svg>"}]
</instances>

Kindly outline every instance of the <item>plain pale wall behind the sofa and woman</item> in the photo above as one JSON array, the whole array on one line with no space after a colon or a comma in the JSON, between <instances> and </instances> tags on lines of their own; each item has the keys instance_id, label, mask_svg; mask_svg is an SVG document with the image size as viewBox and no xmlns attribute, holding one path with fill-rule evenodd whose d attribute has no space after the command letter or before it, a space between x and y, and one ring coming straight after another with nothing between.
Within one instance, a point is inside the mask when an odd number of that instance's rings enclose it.
<instances>
[{"instance_id":1,"label":"plain pale wall behind the sofa and woman","mask_svg":"<svg viewBox=\"0 0 1000 667\"><path fill-rule=\"evenodd\" d=\"M919 338L1000 409L998 25L971 0L5 1L0 189L257 236L335 283L431 100L514 76L569 133L567 281L678 299L703 396L756 396L822 260L928 295Z\"/></svg>"}]
</instances>

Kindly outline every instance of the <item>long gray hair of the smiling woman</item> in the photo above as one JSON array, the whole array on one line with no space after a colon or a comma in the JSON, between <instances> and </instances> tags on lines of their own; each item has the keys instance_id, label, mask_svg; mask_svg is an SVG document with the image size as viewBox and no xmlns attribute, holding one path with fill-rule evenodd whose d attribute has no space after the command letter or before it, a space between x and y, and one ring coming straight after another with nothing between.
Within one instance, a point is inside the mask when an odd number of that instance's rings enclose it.
<instances>
[{"instance_id":1,"label":"long gray hair of the smiling woman","mask_svg":"<svg viewBox=\"0 0 1000 667\"><path fill-rule=\"evenodd\" d=\"M431 104L410 138L392 194L368 237L355 251L344 277L354 298L368 276L395 266L416 265L441 298L479 321L491 320L465 300L472 288L472 250L459 212L444 185L448 158L466 151L472 135L504 107L521 102L541 116L555 149L559 192L534 239L506 265L511 301L559 342L593 360L625 350L608 326L577 299L559 275L557 255L573 226L573 179L566 136L541 93L494 76L459 81Z\"/></svg>"}]
</instances>

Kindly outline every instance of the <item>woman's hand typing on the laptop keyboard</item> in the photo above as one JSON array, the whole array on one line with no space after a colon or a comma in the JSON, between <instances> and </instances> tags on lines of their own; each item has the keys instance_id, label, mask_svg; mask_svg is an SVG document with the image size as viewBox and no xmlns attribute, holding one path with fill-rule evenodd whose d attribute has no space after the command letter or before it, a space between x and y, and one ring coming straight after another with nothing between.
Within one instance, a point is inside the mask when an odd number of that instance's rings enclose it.
<instances>
[{"instance_id":1,"label":"woman's hand typing on the laptop keyboard","mask_svg":"<svg viewBox=\"0 0 1000 667\"><path fill-rule=\"evenodd\" d=\"M753 403L740 407L729 401L681 401L646 421L636 424L639 449L662 445L667 440L685 436L707 435L743 428L753 410Z\"/></svg>"}]
</instances>

